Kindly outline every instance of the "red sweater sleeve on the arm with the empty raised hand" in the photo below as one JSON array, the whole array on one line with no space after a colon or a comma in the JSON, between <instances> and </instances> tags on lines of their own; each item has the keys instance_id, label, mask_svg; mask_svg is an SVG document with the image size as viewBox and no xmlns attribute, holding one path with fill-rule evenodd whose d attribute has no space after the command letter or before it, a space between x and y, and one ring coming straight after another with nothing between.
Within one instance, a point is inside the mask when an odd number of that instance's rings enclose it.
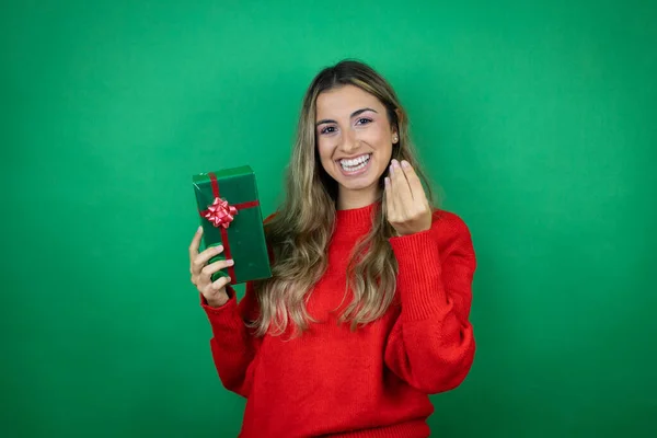
<instances>
[{"instance_id":1,"label":"red sweater sleeve on the arm with the empty raised hand","mask_svg":"<svg viewBox=\"0 0 657 438\"><path fill-rule=\"evenodd\" d=\"M458 216L443 212L430 230L390 243L402 310L388 338L385 364L426 393L452 390L465 379L475 350L469 322L476 268L470 231Z\"/></svg>"}]
</instances>

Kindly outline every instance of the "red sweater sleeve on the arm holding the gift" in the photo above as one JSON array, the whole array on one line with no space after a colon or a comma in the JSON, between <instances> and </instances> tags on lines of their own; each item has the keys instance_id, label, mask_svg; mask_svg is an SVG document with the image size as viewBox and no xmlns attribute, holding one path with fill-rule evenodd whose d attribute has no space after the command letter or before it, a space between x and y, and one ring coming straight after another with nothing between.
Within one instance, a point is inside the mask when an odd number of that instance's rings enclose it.
<instances>
[{"instance_id":1,"label":"red sweater sleeve on the arm holding the gift","mask_svg":"<svg viewBox=\"0 0 657 438\"><path fill-rule=\"evenodd\" d=\"M256 299L251 283L246 284L244 297L239 303L235 291L231 287L227 290L229 300L226 304L211 308L201 296L200 306L212 330L210 350L223 387L249 397L262 338L256 338L244 322L255 318Z\"/></svg>"}]
</instances>

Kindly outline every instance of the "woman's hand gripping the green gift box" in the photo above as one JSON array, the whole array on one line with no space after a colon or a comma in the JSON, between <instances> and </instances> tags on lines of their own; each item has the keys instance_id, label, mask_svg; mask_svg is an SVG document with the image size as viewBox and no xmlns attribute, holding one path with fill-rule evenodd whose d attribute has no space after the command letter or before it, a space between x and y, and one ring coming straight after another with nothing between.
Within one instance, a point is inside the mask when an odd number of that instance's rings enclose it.
<instances>
[{"instance_id":1,"label":"woman's hand gripping the green gift box","mask_svg":"<svg viewBox=\"0 0 657 438\"><path fill-rule=\"evenodd\" d=\"M212 283L212 274L226 269L233 265L233 261L217 261L208 265L208 261L221 254L223 246L210 246L201 253L198 252L200 238L203 237L203 227L198 227L192 244L189 245L189 273L192 274L192 284L208 302L208 306L218 308L228 302L228 292L226 286L230 283L230 277L222 276Z\"/></svg>"}]
</instances>

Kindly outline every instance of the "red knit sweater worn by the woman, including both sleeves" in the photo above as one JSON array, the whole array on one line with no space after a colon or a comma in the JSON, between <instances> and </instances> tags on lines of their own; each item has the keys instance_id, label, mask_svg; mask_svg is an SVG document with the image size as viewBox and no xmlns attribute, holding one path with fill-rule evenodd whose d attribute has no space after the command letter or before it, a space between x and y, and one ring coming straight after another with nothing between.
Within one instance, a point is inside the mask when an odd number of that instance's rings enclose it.
<instances>
[{"instance_id":1,"label":"red knit sweater worn by the woman, including both sleeves","mask_svg":"<svg viewBox=\"0 0 657 438\"><path fill-rule=\"evenodd\" d=\"M468 374L476 263L468 227L453 214L436 211L430 230L390 239L395 306L355 333L336 324L349 253L371 227L372 208L337 211L328 268L307 304L319 322L301 337L250 335L242 322L255 310L250 285L240 303L232 290L220 308L201 299L219 378L247 399L241 437L427 437L428 394Z\"/></svg>"}]
</instances>

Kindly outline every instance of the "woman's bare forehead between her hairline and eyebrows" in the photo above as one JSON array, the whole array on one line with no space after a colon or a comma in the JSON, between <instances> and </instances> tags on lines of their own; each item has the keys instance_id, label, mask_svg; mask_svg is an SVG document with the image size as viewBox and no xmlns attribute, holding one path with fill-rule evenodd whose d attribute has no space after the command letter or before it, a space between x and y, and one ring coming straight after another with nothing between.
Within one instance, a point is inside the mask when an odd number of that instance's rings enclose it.
<instances>
[{"instance_id":1,"label":"woman's bare forehead between her hairline and eyebrows","mask_svg":"<svg viewBox=\"0 0 657 438\"><path fill-rule=\"evenodd\" d=\"M372 94L355 85L343 85L322 92L318 96L316 118L349 117L349 115L365 107L370 107L381 113L383 104Z\"/></svg>"}]
</instances>

